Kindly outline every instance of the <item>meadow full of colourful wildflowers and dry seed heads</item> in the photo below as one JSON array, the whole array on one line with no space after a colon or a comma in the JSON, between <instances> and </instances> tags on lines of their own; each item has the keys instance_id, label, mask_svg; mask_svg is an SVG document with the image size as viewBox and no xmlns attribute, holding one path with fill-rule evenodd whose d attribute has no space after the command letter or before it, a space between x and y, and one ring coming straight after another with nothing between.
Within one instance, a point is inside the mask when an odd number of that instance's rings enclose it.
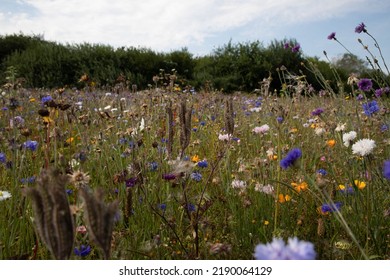
<instances>
[{"instance_id":1,"label":"meadow full of colourful wildflowers and dry seed heads","mask_svg":"<svg viewBox=\"0 0 390 280\"><path fill-rule=\"evenodd\" d=\"M376 46L364 76L325 79L307 60L316 88L274 65L258 90L230 94L159 69L146 89L86 75L29 88L8 67L0 259L389 259L390 78Z\"/></svg>"}]
</instances>

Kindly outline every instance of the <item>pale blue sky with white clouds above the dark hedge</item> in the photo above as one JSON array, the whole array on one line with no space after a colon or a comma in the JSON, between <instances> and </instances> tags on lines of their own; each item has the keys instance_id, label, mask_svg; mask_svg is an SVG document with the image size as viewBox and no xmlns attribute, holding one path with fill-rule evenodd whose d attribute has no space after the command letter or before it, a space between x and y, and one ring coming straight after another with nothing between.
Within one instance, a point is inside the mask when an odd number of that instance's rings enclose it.
<instances>
[{"instance_id":1,"label":"pale blue sky with white clouds above the dark hedge","mask_svg":"<svg viewBox=\"0 0 390 280\"><path fill-rule=\"evenodd\" d=\"M380 59L374 41L355 27L364 22L390 61L389 0L0 0L0 35L41 35L64 44L187 48L212 53L229 41L295 39L305 56L340 57L345 49ZM390 62L389 62L390 63Z\"/></svg>"}]
</instances>

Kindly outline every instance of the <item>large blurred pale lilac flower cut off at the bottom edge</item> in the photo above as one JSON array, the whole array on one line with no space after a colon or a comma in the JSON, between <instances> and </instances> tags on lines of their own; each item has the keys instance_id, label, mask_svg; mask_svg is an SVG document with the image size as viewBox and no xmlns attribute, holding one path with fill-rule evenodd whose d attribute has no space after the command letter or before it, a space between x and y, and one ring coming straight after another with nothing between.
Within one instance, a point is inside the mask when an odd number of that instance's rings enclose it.
<instances>
[{"instance_id":1,"label":"large blurred pale lilac flower cut off at the bottom edge","mask_svg":"<svg viewBox=\"0 0 390 280\"><path fill-rule=\"evenodd\" d=\"M314 245L297 237L289 238L287 244L282 238L273 238L271 243L258 244L253 254L256 260L314 260Z\"/></svg>"}]
</instances>

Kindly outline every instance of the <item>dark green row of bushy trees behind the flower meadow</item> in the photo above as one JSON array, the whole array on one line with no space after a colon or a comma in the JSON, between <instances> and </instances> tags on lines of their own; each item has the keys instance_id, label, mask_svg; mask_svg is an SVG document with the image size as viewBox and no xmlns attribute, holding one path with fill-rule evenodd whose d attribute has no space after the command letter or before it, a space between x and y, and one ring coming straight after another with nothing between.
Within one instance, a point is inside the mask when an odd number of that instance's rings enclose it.
<instances>
[{"instance_id":1,"label":"dark green row of bushy trees behind the flower meadow","mask_svg":"<svg viewBox=\"0 0 390 280\"><path fill-rule=\"evenodd\" d=\"M335 68L346 81L350 71L366 71L364 62L344 55L337 63L317 57L305 57L294 39L274 40L268 46L260 41L227 44L210 54L194 56L187 48L168 53L148 48L114 48L101 44L60 44L46 41L40 35L12 34L0 36L0 82L6 82L6 71L14 67L23 86L30 88L81 87L80 77L88 77L97 86L114 86L125 80L139 89L154 86L153 77L174 69L175 83L197 89L224 92L251 92L267 78L271 89L283 84L280 69L303 76L316 89L323 86L307 65L315 65L324 79L334 80ZM351 68L351 61L354 62ZM344 63L343 65L343 62ZM336 82L334 85L337 87Z\"/></svg>"}]
</instances>

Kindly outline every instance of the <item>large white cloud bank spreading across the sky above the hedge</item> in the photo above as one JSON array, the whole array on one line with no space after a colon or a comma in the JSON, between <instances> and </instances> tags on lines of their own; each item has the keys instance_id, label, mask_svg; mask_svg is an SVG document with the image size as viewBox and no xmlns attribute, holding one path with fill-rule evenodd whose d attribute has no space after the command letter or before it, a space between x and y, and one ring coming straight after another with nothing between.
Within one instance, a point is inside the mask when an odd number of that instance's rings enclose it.
<instances>
[{"instance_id":1,"label":"large white cloud bank spreading across the sky above the hedge","mask_svg":"<svg viewBox=\"0 0 390 280\"><path fill-rule=\"evenodd\" d=\"M69 43L172 50L251 25L274 27L366 11L380 0L24 0L34 13L0 13L3 33ZM382 4L381 4L382 3ZM379 5L379 6L378 6ZM1 8L1 4L0 4ZM276 37L276 36L274 36Z\"/></svg>"}]
</instances>

